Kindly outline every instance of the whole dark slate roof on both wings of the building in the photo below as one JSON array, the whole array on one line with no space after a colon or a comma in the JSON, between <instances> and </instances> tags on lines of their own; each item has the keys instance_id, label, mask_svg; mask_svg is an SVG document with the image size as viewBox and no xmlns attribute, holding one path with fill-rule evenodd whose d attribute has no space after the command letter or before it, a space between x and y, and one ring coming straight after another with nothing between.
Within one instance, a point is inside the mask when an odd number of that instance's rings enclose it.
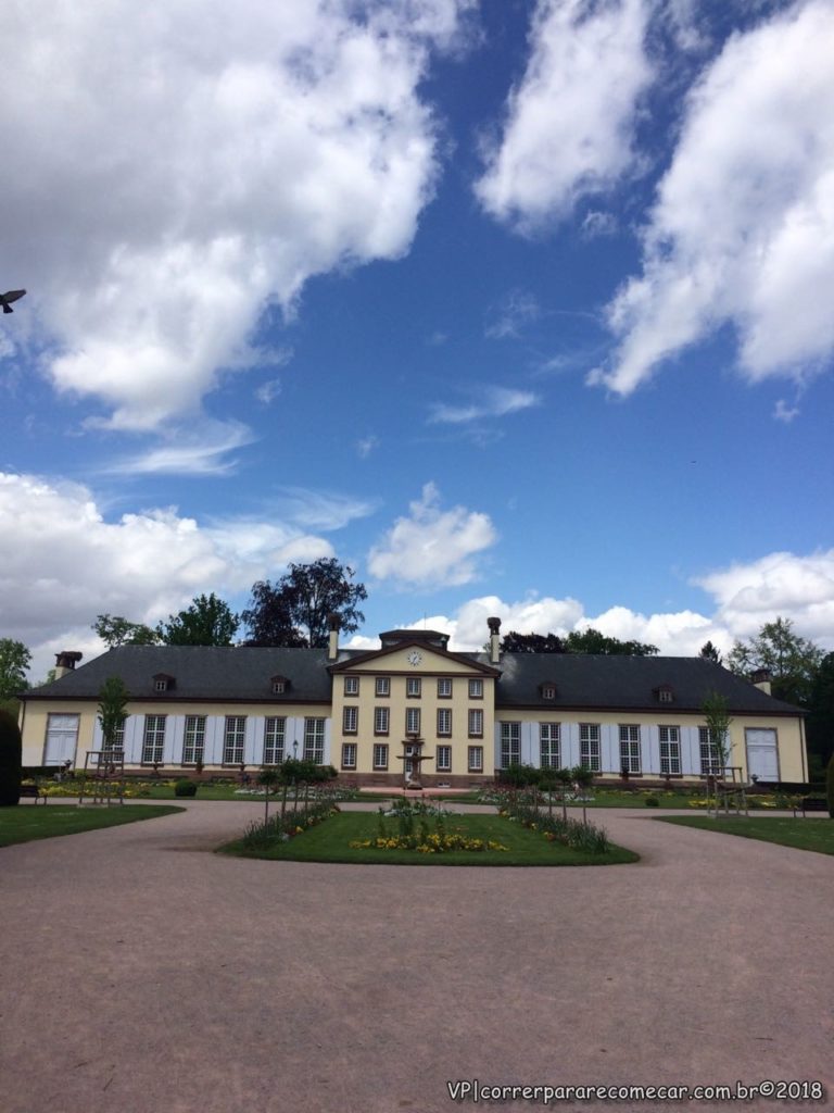
<instances>
[{"instance_id":1,"label":"whole dark slate roof on both wings of the building","mask_svg":"<svg viewBox=\"0 0 834 1113\"><path fill-rule=\"evenodd\" d=\"M488 653L455 653L490 667ZM342 650L339 663L366 661L373 652ZM331 677L325 649L256 649L206 646L122 646L60 680L24 693L27 700L98 699L108 677L125 681L132 699L227 702L329 703ZM494 667L493 667L494 668ZM802 709L773 699L719 664L699 657L617 657L590 653L504 653L498 664L496 708L542 710L652 710L697 713L709 692L725 696L731 715L802 715ZM166 673L175 687L160 693L153 678ZM272 692L272 679L286 677L286 692ZM543 684L555 684L545 699ZM672 702L661 702L657 689L669 687Z\"/></svg>"}]
</instances>

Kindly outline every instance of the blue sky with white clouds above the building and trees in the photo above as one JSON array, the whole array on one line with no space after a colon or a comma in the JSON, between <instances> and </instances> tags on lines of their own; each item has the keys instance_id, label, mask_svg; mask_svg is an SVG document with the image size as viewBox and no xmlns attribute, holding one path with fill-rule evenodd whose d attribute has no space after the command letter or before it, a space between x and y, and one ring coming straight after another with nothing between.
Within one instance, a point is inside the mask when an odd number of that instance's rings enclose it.
<instances>
[{"instance_id":1,"label":"blue sky with white clouds above the building and trees","mask_svg":"<svg viewBox=\"0 0 834 1113\"><path fill-rule=\"evenodd\" d=\"M0 21L0 638L288 562L345 642L834 649L834 0Z\"/></svg>"}]
</instances>

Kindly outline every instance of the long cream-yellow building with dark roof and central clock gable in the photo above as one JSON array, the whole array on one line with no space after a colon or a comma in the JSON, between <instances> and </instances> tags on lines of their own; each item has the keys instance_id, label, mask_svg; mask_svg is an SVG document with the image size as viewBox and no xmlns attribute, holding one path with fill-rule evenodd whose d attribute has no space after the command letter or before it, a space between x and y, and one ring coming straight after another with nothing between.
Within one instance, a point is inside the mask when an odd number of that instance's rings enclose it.
<instances>
[{"instance_id":1,"label":"long cream-yellow building with dark roof and central clock gable","mask_svg":"<svg viewBox=\"0 0 834 1113\"><path fill-rule=\"evenodd\" d=\"M727 700L731 765L745 779L807 780L800 709L770 684L691 657L458 653L446 634L390 630L380 648L125 646L22 697L23 764L85 765L102 748L101 687L130 693L125 766L219 775L288 757L332 765L349 784L465 787L513 762L590 767L602 779L693 781L714 761L704 698Z\"/></svg>"}]
</instances>

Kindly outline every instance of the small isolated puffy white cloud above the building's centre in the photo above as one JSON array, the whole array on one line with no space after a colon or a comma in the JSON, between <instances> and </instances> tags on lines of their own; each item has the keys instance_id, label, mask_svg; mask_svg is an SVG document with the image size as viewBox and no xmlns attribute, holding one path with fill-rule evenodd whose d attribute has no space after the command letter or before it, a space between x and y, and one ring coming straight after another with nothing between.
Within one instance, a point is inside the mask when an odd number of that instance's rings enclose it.
<instances>
[{"instance_id":1,"label":"small isolated puffy white cloud above the building's centre","mask_svg":"<svg viewBox=\"0 0 834 1113\"><path fill-rule=\"evenodd\" d=\"M453 506L443 511L434 483L398 518L384 540L368 554L368 570L379 580L414 587L448 588L477 575L473 558L495 544L497 534L487 514Z\"/></svg>"}]
</instances>

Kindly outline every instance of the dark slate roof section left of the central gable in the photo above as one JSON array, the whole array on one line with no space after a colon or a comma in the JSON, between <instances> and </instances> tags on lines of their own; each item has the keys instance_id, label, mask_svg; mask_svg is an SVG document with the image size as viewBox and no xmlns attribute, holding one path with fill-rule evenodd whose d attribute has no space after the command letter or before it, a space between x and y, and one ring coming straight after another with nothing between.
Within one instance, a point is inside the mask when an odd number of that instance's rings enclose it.
<instances>
[{"instance_id":1,"label":"dark slate roof section left of the central gable","mask_svg":"<svg viewBox=\"0 0 834 1113\"><path fill-rule=\"evenodd\" d=\"M169 692L153 690L153 677L176 680ZM289 681L276 696L272 679ZM255 649L217 646L121 646L59 680L24 693L26 699L98 699L108 677L121 677L131 699L228 700L268 703L325 702L331 698L326 649Z\"/></svg>"}]
</instances>

